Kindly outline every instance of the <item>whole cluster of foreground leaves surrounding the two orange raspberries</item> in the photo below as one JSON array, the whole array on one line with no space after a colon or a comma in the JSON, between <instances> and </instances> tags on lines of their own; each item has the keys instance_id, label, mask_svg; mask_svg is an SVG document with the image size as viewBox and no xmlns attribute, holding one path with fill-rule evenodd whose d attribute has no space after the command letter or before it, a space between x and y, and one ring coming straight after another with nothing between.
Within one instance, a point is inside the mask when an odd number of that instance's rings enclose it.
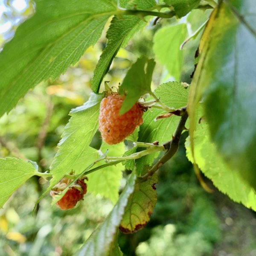
<instances>
[{"instance_id":1,"label":"whole cluster of foreground leaves surrounding the two orange raspberries","mask_svg":"<svg viewBox=\"0 0 256 256\"><path fill-rule=\"evenodd\" d=\"M148 15L180 18L194 8L213 9L201 37L199 61L191 88L180 82L168 82L152 93L154 60L141 57L131 66L120 86L120 92L127 93L121 113L128 111L146 93L153 97L148 98L148 102L154 99L158 102L160 98L160 107L164 107L146 112L143 125L129 140L143 143L157 140L160 144L169 141L165 161L168 160L175 153L172 143L175 139L178 143L184 128L183 124L182 129L178 129L183 117L171 115L168 119L154 120L165 114L166 109L171 112L187 105L189 138L186 147L189 160L195 167L198 165L219 190L234 201L256 210L256 158L253 153L256 146L256 113L253 111L256 104L256 75L253 70L256 10L253 1L223 0L216 6L214 1L160 2L36 0L35 15L17 29L15 37L0 53L0 115L3 115L36 84L56 79L70 65L76 64L84 51L98 41L105 23L114 15L106 35L108 43L94 71L93 93L84 105L70 112L71 118L64 128L50 172L38 172L36 163L31 161L0 159L0 207L30 177L52 177L40 200L72 170L75 170L76 178L88 174L89 192L99 193L116 203L77 255L122 255L117 244L117 228L120 226L125 233L142 228L156 203L154 184L157 183L157 175L152 172L146 181L136 180L136 176L145 175L148 169L157 170L158 167L153 165L158 156L156 151L137 160L123 162L132 153L137 152L136 156L140 156L142 148L135 146L125 152L124 143L116 146L103 143L100 150L90 147L98 128L102 80L120 47L125 47L134 34L147 25L144 17ZM199 30L201 28L203 26ZM168 37L162 40L164 35ZM196 35L198 32L190 38ZM169 42L172 37L174 39ZM185 37L184 24L163 27L154 36L156 58L176 80L180 79L183 60L182 52L177 48ZM176 55L167 55L170 49ZM200 101L203 103L199 105ZM172 134L177 135L173 140ZM107 149L108 156L116 157L116 162L104 162ZM120 162L133 171L119 196ZM119 165L113 167L117 163Z\"/></svg>"}]
</instances>

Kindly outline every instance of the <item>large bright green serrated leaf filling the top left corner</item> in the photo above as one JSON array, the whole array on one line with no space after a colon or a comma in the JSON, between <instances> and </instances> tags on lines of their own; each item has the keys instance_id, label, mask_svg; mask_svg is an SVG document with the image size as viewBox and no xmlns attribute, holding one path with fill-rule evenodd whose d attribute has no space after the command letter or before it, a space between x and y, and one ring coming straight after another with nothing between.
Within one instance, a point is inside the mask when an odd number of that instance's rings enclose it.
<instances>
[{"instance_id":1,"label":"large bright green serrated leaf filling the top left corner","mask_svg":"<svg viewBox=\"0 0 256 256\"><path fill-rule=\"evenodd\" d=\"M0 116L30 88L58 78L75 64L116 12L111 0L35 2L35 15L18 27L0 53Z\"/></svg>"}]
</instances>

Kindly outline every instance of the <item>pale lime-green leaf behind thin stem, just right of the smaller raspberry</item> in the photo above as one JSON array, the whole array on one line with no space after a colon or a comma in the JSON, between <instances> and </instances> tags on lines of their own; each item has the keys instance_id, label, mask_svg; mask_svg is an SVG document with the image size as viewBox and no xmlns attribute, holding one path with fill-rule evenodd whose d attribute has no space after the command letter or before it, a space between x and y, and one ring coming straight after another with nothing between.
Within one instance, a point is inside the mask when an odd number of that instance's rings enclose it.
<instances>
[{"instance_id":1,"label":"pale lime-green leaf behind thin stem, just right of the smaller raspberry","mask_svg":"<svg viewBox=\"0 0 256 256\"><path fill-rule=\"evenodd\" d=\"M121 157L125 152L125 144L119 143L116 145L107 145L103 142L100 150L103 154L108 150L107 155L109 157ZM97 158L98 157L99 155ZM98 165L101 164L104 164L104 162L101 161ZM88 175L87 191L94 195L100 194L105 198L110 199L113 203L116 203L119 196L119 186L123 170L124 167L122 166L122 163L118 163L115 166L108 166L104 169L99 169L96 172L90 173Z\"/></svg>"}]
</instances>

